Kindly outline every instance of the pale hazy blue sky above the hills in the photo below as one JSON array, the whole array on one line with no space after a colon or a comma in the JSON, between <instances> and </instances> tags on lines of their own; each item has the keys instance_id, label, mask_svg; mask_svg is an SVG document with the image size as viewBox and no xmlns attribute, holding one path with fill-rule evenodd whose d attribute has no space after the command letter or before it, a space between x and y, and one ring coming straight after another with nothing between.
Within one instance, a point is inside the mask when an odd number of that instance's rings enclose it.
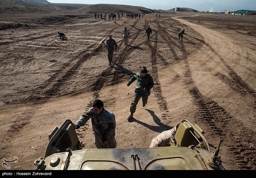
<instances>
[{"instance_id":1,"label":"pale hazy blue sky above the hills","mask_svg":"<svg viewBox=\"0 0 256 178\"><path fill-rule=\"evenodd\" d=\"M149 9L169 10L175 7L187 7L197 11L225 12L225 10L256 11L256 0L47 0L50 3L70 4L123 4L142 6Z\"/></svg>"}]
</instances>

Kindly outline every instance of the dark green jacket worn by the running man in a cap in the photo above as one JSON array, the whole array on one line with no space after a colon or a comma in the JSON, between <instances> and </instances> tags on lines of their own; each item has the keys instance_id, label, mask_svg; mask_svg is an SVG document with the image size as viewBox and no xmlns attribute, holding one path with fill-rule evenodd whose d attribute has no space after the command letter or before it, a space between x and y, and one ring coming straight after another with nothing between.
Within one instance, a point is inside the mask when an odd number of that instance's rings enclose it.
<instances>
[{"instance_id":1,"label":"dark green jacket worn by the running man in a cap","mask_svg":"<svg viewBox=\"0 0 256 178\"><path fill-rule=\"evenodd\" d=\"M150 89L152 89L154 86L154 81L152 76L150 74L146 74L145 77L142 77L139 72L132 76L132 78L128 81L128 84L130 85L135 80L137 80L135 93L140 96L149 96ZM148 90L144 91L144 88L147 88Z\"/></svg>"}]
</instances>

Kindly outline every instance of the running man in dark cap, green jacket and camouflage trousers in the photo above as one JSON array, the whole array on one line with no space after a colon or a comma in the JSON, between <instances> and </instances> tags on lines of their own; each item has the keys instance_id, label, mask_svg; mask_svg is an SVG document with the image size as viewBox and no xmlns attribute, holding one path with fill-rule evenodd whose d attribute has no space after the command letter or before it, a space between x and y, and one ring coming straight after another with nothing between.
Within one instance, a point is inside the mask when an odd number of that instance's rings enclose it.
<instances>
[{"instance_id":1,"label":"running man in dark cap, green jacket and camouflage trousers","mask_svg":"<svg viewBox=\"0 0 256 178\"><path fill-rule=\"evenodd\" d=\"M148 74L147 67L145 66L141 68L139 73L132 76L128 81L127 86L129 87L135 80L137 80L137 85L135 87L135 95L130 107L131 114L127 118L128 120L133 118L133 113L136 111L140 98L142 98L142 106L146 106L148 103L148 96L150 95L150 89L154 86L153 78Z\"/></svg>"}]
</instances>

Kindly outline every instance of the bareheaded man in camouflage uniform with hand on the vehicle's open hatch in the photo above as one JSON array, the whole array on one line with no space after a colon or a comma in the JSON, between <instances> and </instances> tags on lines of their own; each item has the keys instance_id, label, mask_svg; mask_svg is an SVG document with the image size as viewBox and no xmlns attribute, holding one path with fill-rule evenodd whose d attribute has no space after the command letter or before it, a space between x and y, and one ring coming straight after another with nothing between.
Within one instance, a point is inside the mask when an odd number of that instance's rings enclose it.
<instances>
[{"instance_id":1,"label":"bareheaded man in camouflage uniform with hand on the vehicle's open hatch","mask_svg":"<svg viewBox=\"0 0 256 178\"><path fill-rule=\"evenodd\" d=\"M115 114L103 107L101 100L96 99L92 107L77 120L75 129L84 126L91 118L94 144L100 148L116 148L116 118Z\"/></svg>"}]
</instances>

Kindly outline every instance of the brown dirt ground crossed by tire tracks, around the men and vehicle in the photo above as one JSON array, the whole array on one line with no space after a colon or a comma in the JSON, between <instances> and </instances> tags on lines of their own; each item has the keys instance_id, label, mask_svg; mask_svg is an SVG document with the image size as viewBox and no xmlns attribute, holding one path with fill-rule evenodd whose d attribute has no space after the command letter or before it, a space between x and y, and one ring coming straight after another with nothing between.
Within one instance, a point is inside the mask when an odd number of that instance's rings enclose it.
<instances>
[{"instance_id":1,"label":"brown dirt ground crossed by tire tracks, around the men and vehicle","mask_svg":"<svg viewBox=\"0 0 256 178\"><path fill-rule=\"evenodd\" d=\"M183 28L187 35L180 42ZM51 131L67 119L76 122L99 98L116 115L117 148L149 147L152 138L187 118L210 144L224 139L220 154L227 170L256 170L255 29L256 16L180 12L157 19L126 19L124 13L107 21L92 14L1 30L1 160L16 156L12 170L35 169ZM54 37L58 31L68 40ZM113 66L100 47L110 34L118 44ZM128 121L136 82L126 83L142 66L155 85L146 107L140 100ZM84 148L96 148L91 121L76 131Z\"/></svg>"}]
</instances>

